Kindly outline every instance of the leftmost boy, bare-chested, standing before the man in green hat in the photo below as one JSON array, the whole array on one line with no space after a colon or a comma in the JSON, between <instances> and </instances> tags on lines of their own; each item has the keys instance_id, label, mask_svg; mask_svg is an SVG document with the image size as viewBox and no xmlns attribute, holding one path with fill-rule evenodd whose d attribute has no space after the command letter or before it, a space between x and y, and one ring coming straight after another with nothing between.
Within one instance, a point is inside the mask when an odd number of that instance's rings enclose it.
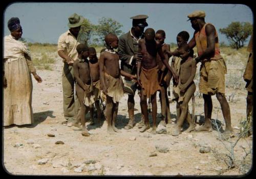
<instances>
[{"instance_id":1,"label":"leftmost boy, bare-chested, standing before the man in green hat","mask_svg":"<svg viewBox=\"0 0 256 179\"><path fill-rule=\"evenodd\" d=\"M90 67L87 57L89 56L89 48L84 44L76 47L78 58L73 64L74 76L76 79L76 93L81 104L81 110L77 117L80 117L82 123L82 135L89 136L86 128L86 114L90 110L90 117L93 120L92 110L94 98L92 94L92 79ZM78 123L78 119L76 123ZM77 125L77 124L74 124Z\"/></svg>"}]
</instances>

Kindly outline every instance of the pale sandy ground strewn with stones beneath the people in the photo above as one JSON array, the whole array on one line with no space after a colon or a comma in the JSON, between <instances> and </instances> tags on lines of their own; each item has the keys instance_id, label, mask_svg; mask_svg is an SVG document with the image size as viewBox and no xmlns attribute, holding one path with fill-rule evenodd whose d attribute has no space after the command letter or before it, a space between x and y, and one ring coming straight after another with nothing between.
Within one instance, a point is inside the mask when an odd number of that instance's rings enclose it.
<instances>
[{"instance_id":1,"label":"pale sandy ground strewn with stones beneath the people","mask_svg":"<svg viewBox=\"0 0 256 179\"><path fill-rule=\"evenodd\" d=\"M221 141L217 140L216 130L208 133L186 131L179 136L171 135L174 123L166 127L167 133L151 134L148 130L139 132L137 126L125 130L129 121L127 95L124 95L117 116L117 128L121 133L110 135L106 132L106 122L90 126L89 137L81 135L75 127L61 124L65 119L62 109L62 62L57 58L53 71L37 70L43 79L37 83L33 78L33 116L31 126L11 126L4 129L3 149L4 167L14 175L242 175L249 172L250 165L240 165L245 152L252 146L252 136L241 139L234 147L236 167L227 170L223 161L217 160L212 152L229 154ZM228 64L227 64L228 65ZM237 67L236 67L237 68ZM199 65L198 69L199 70ZM198 77L197 77L198 78ZM196 83L198 79L196 80ZM196 91L196 115L203 120L203 99ZM235 94L235 95L232 95ZM158 94L157 94L158 95ZM247 91L226 88L227 100L231 110L234 136L230 142L223 142L227 148L238 139L237 128L246 116ZM159 100L159 98L158 98ZM139 96L135 96L135 120L140 120ZM220 104L212 97L212 118L224 123ZM191 102L190 102L191 103ZM191 109L189 104L189 109ZM170 104L173 121L176 118L176 104ZM191 111L191 110L190 110ZM158 101L158 121L160 122L160 103ZM201 115L201 116L200 116ZM150 118L151 120L151 118ZM152 122L152 120L151 120ZM89 123L88 123L89 124ZM225 123L223 126L225 129ZM47 134L54 134L50 137ZM65 144L55 144L62 141ZM156 149L157 146L165 152ZM202 146L209 147L208 153L200 153ZM150 156L150 155L156 156ZM250 163L250 155L246 157ZM91 161L90 161L91 160ZM91 164L90 164L91 163ZM41 165L40 165L41 164Z\"/></svg>"}]
</instances>

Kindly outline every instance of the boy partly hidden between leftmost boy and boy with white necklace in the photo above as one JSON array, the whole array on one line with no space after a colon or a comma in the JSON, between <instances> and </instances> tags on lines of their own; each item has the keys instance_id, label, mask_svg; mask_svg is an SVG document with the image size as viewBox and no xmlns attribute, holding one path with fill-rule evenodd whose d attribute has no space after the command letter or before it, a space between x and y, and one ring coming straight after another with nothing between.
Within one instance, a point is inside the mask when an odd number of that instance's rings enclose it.
<instances>
[{"instance_id":1,"label":"boy partly hidden between leftmost boy and boy with white necklace","mask_svg":"<svg viewBox=\"0 0 256 179\"><path fill-rule=\"evenodd\" d=\"M97 53L94 47L89 47L89 66L91 70L91 76L93 81L93 94L94 94L94 102L97 110L97 123L100 122L101 118L101 110L99 106L100 100L100 79L99 79L99 61L97 58ZM90 123L93 125L94 121Z\"/></svg>"}]
</instances>

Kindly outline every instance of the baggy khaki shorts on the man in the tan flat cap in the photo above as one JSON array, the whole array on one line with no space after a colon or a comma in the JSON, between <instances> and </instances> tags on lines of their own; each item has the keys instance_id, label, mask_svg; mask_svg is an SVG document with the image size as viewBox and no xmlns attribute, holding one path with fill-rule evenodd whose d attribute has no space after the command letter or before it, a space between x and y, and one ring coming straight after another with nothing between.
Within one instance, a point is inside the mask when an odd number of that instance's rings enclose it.
<instances>
[{"instance_id":1,"label":"baggy khaki shorts on the man in the tan flat cap","mask_svg":"<svg viewBox=\"0 0 256 179\"><path fill-rule=\"evenodd\" d=\"M204 61L200 67L200 93L214 95L225 94L225 74L227 67L223 58Z\"/></svg>"}]
</instances>

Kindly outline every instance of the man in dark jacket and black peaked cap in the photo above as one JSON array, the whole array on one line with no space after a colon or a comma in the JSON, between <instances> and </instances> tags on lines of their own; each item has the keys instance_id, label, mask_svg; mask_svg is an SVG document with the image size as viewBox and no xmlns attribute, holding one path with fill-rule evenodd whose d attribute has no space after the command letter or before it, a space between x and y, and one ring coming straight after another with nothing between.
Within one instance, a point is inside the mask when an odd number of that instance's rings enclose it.
<instances>
[{"instance_id":1,"label":"man in dark jacket and black peaked cap","mask_svg":"<svg viewBox=\"0 0 256 179\"><path fill-rule=\"evenodd\" d=\"M136 15L131 17L133 19L133 27L129 32L121 35L119 37L118 45L118 55L121 60L121 70L130 73L136 74L136 61L141 61L142 55L138 53L139 51L139 39L143 36L144 28L147 25L146 18L147 15ZM134 95L137 89L137 83L131 81L129 78L124 78L124 90L128 93L128 113L129 113L129 123L124 127L124 129L131 129L135 126L134 120ZM130 90L128 90L130 89ZM144 117L140 122L139 128L144 125Z\"/></svg>"}]
</instances>

